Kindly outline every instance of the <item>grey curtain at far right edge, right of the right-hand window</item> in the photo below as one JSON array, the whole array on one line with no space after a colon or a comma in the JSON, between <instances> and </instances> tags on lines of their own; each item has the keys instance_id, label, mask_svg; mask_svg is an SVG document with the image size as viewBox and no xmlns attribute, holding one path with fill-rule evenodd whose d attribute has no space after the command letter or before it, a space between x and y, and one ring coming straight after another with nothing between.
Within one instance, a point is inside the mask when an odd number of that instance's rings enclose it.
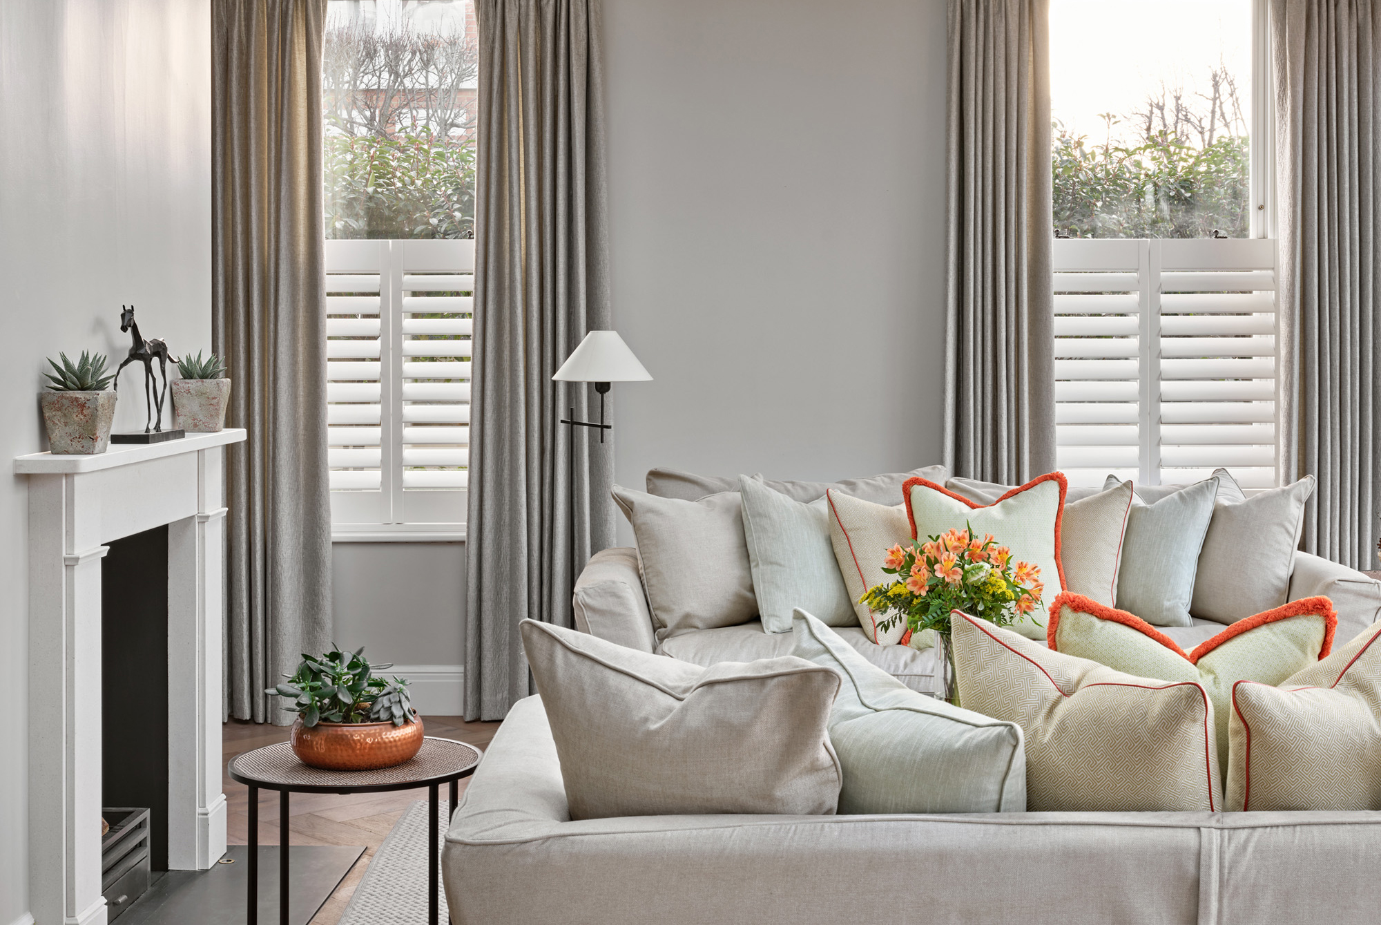
<instances>
[{"instance_id":1,"label":"grey curtain at far right edge, right of the right-hand window","mask_svg":"<svg viewBox=\"0 0 1381 925\"><path fill-rule=\"evenodd\" d=\"M1381 19L1374 0L1273 0L1282 482L1313 474L1302 548L1375 562L1381 498Z\"/></svg>"}]
</instances>

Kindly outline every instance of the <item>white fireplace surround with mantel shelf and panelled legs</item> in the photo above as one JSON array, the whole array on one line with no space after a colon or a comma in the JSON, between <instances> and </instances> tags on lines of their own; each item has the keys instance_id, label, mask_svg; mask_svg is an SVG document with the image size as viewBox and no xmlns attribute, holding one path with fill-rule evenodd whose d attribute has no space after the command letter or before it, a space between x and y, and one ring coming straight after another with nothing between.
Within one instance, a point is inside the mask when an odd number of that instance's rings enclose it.
<instances>
[{"instance_id":1,"label":"white fireplace surround with mantel shelf and panelled legs","mask_svg":"<svg viewBox=\"0 0 1381 925\"><path fill-rule=\"evenodd\" d=\"M101 558L168 526L168 867L225 853L224 447L242 429L99 456L17 457L29 476L29 896L37 925L104 925Z\"/></svg>"}]
</instances>

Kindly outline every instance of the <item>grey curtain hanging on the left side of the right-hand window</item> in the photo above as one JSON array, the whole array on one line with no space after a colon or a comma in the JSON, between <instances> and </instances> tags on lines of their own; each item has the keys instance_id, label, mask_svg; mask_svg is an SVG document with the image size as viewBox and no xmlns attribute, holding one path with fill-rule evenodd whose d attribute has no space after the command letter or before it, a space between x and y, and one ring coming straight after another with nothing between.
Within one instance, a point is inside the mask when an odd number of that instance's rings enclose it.
<instances>
[{"instance_id":1,"label":"grey curtain hanging on the left side of the right-hand window","mask_svg":"<svg viewBox=\"0 0 1381 925\"><path fill-rule=\"evenodd\" d=\"M945 463L1055 468L1048 0L950 0Z\"/></svg>"}]
</instances>

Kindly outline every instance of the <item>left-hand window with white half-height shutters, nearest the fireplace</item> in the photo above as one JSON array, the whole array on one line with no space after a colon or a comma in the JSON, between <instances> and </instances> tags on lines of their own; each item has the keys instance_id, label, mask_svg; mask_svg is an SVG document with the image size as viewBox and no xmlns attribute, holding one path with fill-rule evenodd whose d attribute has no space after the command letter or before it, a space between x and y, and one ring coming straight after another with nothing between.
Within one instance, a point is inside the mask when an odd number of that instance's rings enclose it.
<instances>
[{"instance_id":1,"label":"left-hand window with white half-height shutters, nearest the fireplace","mask_svg":"<svg viewBox=\"0 0 1381 925\"><path fill-rule=\"evenodd\" d=\"M322 59L333 533L463 538L471 0L330 0Z\"/></svg>"}]
</instances>

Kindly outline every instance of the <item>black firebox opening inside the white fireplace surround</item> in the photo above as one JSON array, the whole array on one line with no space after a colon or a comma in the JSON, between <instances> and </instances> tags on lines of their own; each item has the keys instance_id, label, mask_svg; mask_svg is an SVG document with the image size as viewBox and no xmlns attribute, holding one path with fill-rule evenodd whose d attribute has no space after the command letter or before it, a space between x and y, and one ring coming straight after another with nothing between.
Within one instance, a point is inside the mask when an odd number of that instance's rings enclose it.
<instances>
[{"instance_id":1,"label":"black firebox opening inside the white fireplace surround","mask_svg":"<svg viewBox=\"0 0 1381 925\"><path fill-rule=\"evenodd\" d=\"M149 809L149 867L168 867L168 529L101 561L102 806Z\"/></svg>"}]
</instances>

